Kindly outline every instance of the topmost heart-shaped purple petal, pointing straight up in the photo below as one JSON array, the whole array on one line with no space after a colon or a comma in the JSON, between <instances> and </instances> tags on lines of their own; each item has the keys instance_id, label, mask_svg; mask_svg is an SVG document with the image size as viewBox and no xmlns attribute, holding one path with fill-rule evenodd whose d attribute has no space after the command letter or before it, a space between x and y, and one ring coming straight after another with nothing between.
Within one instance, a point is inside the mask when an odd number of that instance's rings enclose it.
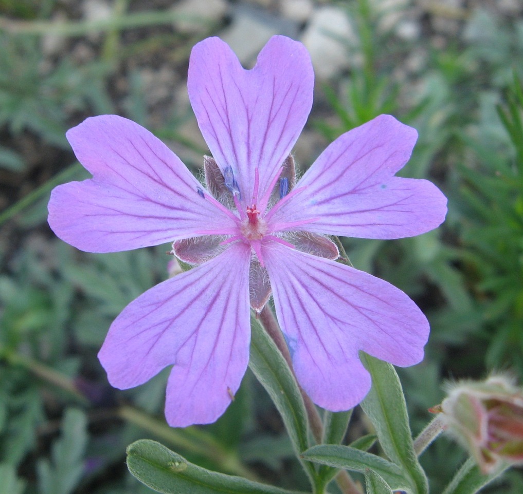
<instances>
[{"instance_id":1,"label":"topmost heart-shaped purple petal, pointing straight up","mask_svg":"<svg viewBox=\"0 0 523 494\"><path fill-rule=\"evenodd\" d=\"M263 196L311 110L314 72L305 47L274 36L255 67L245 70L226 43L208 38L192 49L187 85L198 125L222 173L232 168L247 204L258 168L258 197Z\"/></svg>"}]
</instances>

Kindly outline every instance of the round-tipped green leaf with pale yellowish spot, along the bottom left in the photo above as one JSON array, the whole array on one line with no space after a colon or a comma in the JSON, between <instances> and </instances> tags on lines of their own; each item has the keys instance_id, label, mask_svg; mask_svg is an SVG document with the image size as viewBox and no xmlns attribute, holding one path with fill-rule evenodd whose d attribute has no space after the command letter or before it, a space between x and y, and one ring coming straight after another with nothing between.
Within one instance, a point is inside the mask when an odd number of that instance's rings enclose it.
<instances>
[{"instance_id":1,"label":"round-tipped green leaf with pale yellowish spot, along the bottom left","mask_svg":"<svg viewBox=\"0 0 523 494\"><path fill-rule=\"evenodd\" d=\"M290 494L242 477L211 472L150 439L127 448L127 467L134 477L164 494Z\"/></svg>"}]
</instances>

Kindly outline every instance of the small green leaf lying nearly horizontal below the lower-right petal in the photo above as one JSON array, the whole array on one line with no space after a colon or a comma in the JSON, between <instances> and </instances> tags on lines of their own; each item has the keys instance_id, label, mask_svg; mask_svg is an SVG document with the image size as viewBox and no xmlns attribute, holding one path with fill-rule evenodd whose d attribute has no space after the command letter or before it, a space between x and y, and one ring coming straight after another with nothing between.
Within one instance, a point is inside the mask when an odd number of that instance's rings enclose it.
<instances>
[{"instance_id":1,"label":"small green leaf lying nearly horizontal below the lower-right petal","mask_svg":"<svg viewBox=\"0 0 523 494\"><path fill-rule=\"evenodd\" d=\"M385 460L385 458L350 448L350 446L319 444L305 451L302 457L304 460L336 468L345 468L363 474L371 468L383 477L393 489L410 489L410 479L402 474L399 466Z\"/></svg>"}]
</instances>

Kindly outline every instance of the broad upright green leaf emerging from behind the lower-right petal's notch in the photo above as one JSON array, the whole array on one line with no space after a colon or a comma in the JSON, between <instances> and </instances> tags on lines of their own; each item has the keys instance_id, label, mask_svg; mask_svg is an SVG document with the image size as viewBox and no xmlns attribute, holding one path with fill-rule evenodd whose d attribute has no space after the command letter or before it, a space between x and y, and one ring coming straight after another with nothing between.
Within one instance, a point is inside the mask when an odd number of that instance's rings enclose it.
<instances>
[{"instance_id":1,"label":"broad upright green leaf emerging from behind the lower-right petal's notch","mask_svg":"<svg viewBox=\"0 0 523 494\"><path fill-rule=\"evenodd\" d=\"M428 482L414 452L405 397L396 371L391 364L360 352L360 358L372 376L372 387L361 402L378 435L381 447L390 460L410 479L407 490L426 494Z\"/></svg>"}]
</instances>

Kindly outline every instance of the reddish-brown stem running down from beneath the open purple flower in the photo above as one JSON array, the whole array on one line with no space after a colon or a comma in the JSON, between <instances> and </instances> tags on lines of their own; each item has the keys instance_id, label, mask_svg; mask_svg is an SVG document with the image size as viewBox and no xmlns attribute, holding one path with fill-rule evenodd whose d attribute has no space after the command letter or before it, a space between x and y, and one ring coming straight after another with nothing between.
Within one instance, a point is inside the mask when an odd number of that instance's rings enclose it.
<instances>
[{"instance_id":1,"label":"reddish-brown stem running down from beneath the open purple flower","mask_svg":"<svg viewBox=\"0 0 523 494\"><path fill-rule=\"evenodd\" d=\"M259 313L259 321L261 322L261 325L263 325L263 327L265 328L265 331L267 331L267 334L272 338L272 340L280 350L281 355L283 356L283 358L285 358L289 366L289 369L294 374L289 348L287 347L285 338L283 338L283 334L280 331L280 327L278 325L278 322L276 321L276 317L274 316L274 313L268 307L268 305L265 305L265 307ZM320 417L320 414L318 413L318 410L316 409L314 403L312 403L310 396L307 393L305 393L305 391L300 386L300 383L298 383L298 387L303 397L305 410L309 417L309 425L311 427L314 439L318 444L321 444L323 437L323 422ZM336 483L338 484L338 487L344 494L361 494L361 491L354 483L354 480L345 470L339 472L339 474L336 477Z\"/></svg>"}]
</instances>

